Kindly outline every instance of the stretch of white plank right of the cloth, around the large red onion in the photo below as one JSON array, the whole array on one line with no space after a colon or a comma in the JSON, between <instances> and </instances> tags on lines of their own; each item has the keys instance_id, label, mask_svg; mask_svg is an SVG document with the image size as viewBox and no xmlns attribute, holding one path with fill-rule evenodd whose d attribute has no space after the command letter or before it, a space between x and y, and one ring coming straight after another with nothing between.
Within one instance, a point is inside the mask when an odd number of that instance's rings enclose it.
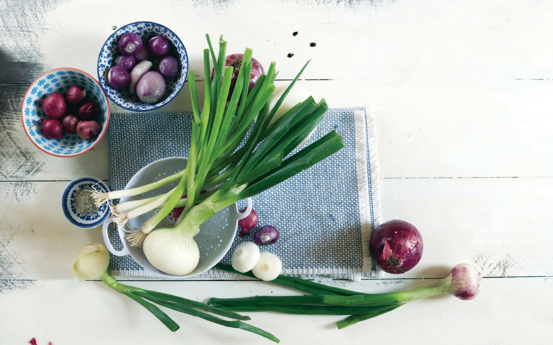
<instances>
[{"instance_id":1,"label":"stretch of white plank right of the cloth, around the large red onion","mask_svg":"<svg viewBox=\"0 0 553 345\"><path fill-rule=\"evenodd\" d=\"M430 178L380 181L382 221L403 219L424 241L406 277L436 277L460 262L483 275L551 276L551 178ZM439 276L439 275L437 275Z\"/></svg>"}]
</instances>

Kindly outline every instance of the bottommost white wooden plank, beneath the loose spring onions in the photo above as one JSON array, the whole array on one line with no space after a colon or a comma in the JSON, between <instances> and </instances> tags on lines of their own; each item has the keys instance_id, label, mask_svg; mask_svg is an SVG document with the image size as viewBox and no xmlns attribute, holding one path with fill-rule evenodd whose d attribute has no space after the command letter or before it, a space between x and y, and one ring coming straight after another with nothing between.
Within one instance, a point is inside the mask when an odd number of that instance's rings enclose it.
<instances>
[{"instance_id":1,"label":"bottommost white wooden plank, beneath the loose spring onions","mask_svg":"<svg viewBox=\"0 0 553 345\"><path fill-rule=\"evenodd\" d=\"M390 292L429 281L363 280L347 288ZM388 314L342 330L342 316L249 313L252 325L273 332L282 344L366 344L410 342L502 345L551 343L553 280L551 278L484 279L476 299L450 295L410 302ZM129 285L206 301L212 296L293 295L290 289L262 282L132 282ZM0 294L0 344L78 342L109 344L262 344L268 340L242 330L212 325L169 310L179 323L175 333L126 296L101 282L71 279L41 280L26 289ZM424 317L421 317L424 315ZM86 335L86 336L84 336Z\"/></svg>"}]
</instances>

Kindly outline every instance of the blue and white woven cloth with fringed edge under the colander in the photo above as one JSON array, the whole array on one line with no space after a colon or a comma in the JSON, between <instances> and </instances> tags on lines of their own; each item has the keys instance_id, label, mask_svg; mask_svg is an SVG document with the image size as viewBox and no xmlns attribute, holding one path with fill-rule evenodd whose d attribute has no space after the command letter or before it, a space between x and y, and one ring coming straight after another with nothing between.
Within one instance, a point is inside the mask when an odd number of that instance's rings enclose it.
<instances>
[{"instance_id":1,"label":"blue and white woven cloth with fringed edge under the colander","mask_svg":"<svg viewBox=\"0 0 553 345\"><path fill-rule=\"evenodd\" d=\"M189 113L111 114L109 188L123 189L150 162L187 156L190 124ZM223 263L230 263L234 247L244 240L252 241L257 229L273 225L279 229L279 241L262 250L282 259L285 274L357 279L374 273L366 247L379 215L374 124L364 108L330 109L302 145L331 130L342 135L345 147L253 197L259 223L246 237L236 236ZM238 208L244 205L240 202ZM111 269L116 275L153 276L131 256L113 257ZM222 275L226 274L217 270L202 274L203 277Z\"/></svg>"}]
</instances>

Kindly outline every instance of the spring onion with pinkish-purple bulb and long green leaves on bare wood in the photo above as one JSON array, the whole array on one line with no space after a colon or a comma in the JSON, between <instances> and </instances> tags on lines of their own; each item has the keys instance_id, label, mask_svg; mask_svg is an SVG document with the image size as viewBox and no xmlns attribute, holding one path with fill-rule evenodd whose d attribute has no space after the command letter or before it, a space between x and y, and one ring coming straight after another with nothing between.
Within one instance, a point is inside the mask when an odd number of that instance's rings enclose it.
<instances>
[{"instance_id":1,"label":"spring onion with pinkish-purple bulb and long green leaves on bare wood","mask_svg":"<svg viewBox=\"0 0 553 345\"><path fill-rule=\"evenodd\" d=\"M254 278L251 272L240 273L226 264L215 268L244 274ZM303 296L255 296L247 298L211 298L207 304L229 311L274 311L285 314L349 315L338 321L338 328L351 326L392 311L408 302L439 294L452 294L462 300L476 297L482 282L481 274L473 266L461 263L451 269L446 278L427 286L408 291L382 294L363 294L335 288L301 278L279 275L271 283L288 286L311 295Z\"/></svg>"}]
</instances>

